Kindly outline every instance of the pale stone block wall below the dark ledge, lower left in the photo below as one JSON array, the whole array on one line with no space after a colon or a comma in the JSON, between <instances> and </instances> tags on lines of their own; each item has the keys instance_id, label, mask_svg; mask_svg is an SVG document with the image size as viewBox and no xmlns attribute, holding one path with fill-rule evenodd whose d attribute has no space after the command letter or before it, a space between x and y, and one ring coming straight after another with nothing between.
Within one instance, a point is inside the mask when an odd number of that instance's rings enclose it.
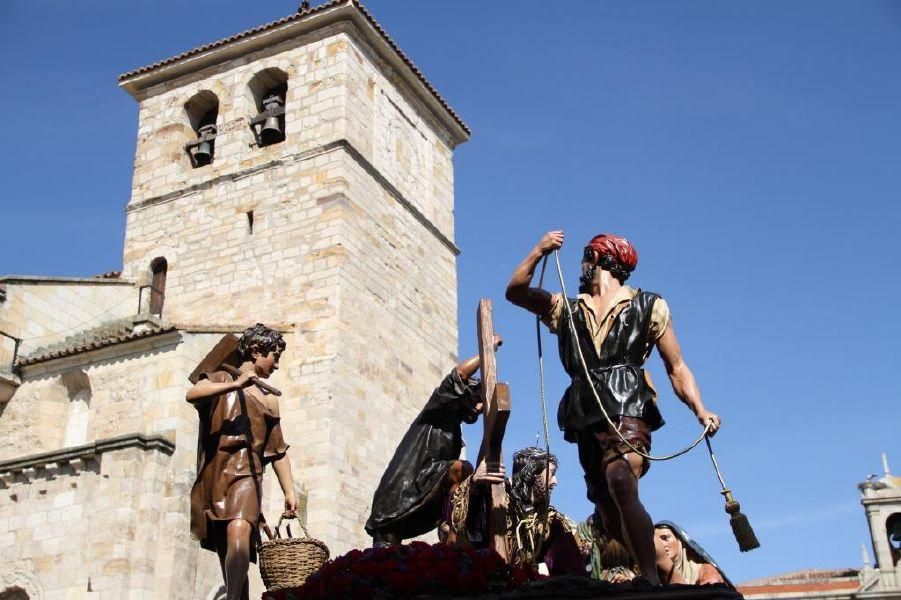
<instances>
[{"instance_id":1,"label":"pale stone block wall below the dark ledge, lower left","mask_svg":"<svg viewBox=\"0 0 901 600\"><path fill-rule=\"evenodd\" d=\"M6 480L0 578L27 573L40 593L32 597L46 600L170 597L154 595L154 554L169 541L157 501L169 460L130 447Z\"/></svg>"}]
</instances>

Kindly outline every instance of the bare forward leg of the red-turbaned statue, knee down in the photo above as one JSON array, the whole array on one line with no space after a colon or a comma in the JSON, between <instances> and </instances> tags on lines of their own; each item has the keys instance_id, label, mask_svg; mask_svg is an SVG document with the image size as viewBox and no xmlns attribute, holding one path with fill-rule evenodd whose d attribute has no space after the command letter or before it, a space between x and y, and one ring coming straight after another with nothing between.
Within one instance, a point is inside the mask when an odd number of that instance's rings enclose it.
<instances>
[{"instance_id":1,"label":"bare forward leg of the red-turbaned statue, knee down","mask_svg":"<svg viewBox=\"0 0 901 600\"><path fill-rule=\"evenodd\" d=\"M619 529L626 548L638 563L642 575L653 585L660 585L654 549L654 524L638 498L638 478L643 463L644 459L631 452L607 463L607 489L619 512Z\"/></svg>"}]
</instances>

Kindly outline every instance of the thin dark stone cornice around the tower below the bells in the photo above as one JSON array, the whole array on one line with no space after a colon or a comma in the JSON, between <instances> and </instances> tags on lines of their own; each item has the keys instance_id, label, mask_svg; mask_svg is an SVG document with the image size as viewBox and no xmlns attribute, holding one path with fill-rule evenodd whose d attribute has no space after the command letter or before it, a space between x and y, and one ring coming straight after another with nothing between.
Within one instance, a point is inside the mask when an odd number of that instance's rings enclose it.
<instances>
[{"instance_id":1,"label":"thin dark stone cornice around the tower below the bells","mask_svg":"<svg viewBox=\"0 0 901 600\"><path fill-rule=\"evenodd\" d=\"M386 179L385 176L382 175L379 170L376 169L375 166L370 163L366 159L366 157L363 156L363 154L353 146L353 144L350 143L349 140L343 138L335 140L334 142L323 144L322 146L317 146L316 148L305 150L303 152L289 154L282 158L270 160L254 167L248 167L247 169L241 169L233 173L219 175L217 177L207 179L206 181L201 181L200 183L195 183L194 185L184 187L180 190L169 192L168 194L153 196L151 198L141 200L140 202L129 204L126 207L125 212L130 213L141 210L148 206L170 202L172 200L176 200L178 198L182 198L199 191L208 190L220 183L244 179L245 177L249 177L262 171L268 171L269 169L274 169L276 167L299 162L302 160L309 160L321 154L334 152L335 150L344 150L348 154L348 156L354 159L354 161L358 165L360 165L360 167L362 167L363 170L366 171L366 173L368 173L380 186L382 186L382 188L386 192L388 192L388 194L392 198L394 198L398 204L400 204L408 213L410 213L414 219L416 219L423 227L425 227L429 231L429 233L435 236L438 241L441 242L448 250L453 252L454 256L460 255L460 249L457 247L457 245L454 244L454 242L450 238L444 235L444 233L442 233L442 231L438 229L438 227L435 226L435 224L432 223L429 218L422 213L422 211L416 208L416 206L414 206L413 203L410 202L400 192L400 190L398 190L390 181L388 181L388 179Z\"/></svg>"}]
</instances>

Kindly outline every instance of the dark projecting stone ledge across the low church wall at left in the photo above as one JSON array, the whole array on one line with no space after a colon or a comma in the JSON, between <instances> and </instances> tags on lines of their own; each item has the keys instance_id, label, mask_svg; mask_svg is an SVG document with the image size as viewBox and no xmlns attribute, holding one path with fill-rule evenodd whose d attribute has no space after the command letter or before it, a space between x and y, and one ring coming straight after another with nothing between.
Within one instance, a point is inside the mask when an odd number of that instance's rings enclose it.
<instances>
[{"instance_id":1,"label":"dark projecting stone ledge across the low church wall at left","mask_svg":"<svg viewBox=\"0 0 901 600\"><path fill-rule=\"evenodd\" d=\"M74 473L79 473L92 461L99 462L101 455L128 448L157 451L170 456L175 452L175 444L161 435L145 436L140 433L129 433L97 440L91 444L70 446L52 452L42 452L2 461L0 462L0 484L9 487L18 476L21 476L26 482L37 479L39 475L52 479L66 467Z\"/></svg>"}]
</instances>

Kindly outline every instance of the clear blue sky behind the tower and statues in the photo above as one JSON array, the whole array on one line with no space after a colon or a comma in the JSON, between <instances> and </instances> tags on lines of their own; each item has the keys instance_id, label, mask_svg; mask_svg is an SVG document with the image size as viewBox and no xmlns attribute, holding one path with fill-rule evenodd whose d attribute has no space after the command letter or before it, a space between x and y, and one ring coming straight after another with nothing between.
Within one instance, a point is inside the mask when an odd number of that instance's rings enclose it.
<instances>
[{"instance_id":1,"label":"clear blue sky behind the tower and statues","mask_svg":"<svg viewBox=\"0 0 901 600\"><path fill-rule=\"evenodd\" d=\"M639 251L631 283L667 298L723 417L715 448L763 548L737 551L700 449L642 480L652 517L685 526L737 581L859 566L855 485L883 451L901 471L901 5L367 7L473 129L455 159L460 353L475 348L478 299L492 298L515 411L507 455L541 428L534 320L503 300L510 272L560 228L574 288L585 241L619 232ZM0 273L119 268L137 105L116 76L295 9L0 4ZM566 381L545 336L553 423ZM650 365L668 421L654 450L666 452L696 425L656 355ZM575 447L553 426L551 445L555 504L582 518Z\"/></svg>"}]
</instances>

